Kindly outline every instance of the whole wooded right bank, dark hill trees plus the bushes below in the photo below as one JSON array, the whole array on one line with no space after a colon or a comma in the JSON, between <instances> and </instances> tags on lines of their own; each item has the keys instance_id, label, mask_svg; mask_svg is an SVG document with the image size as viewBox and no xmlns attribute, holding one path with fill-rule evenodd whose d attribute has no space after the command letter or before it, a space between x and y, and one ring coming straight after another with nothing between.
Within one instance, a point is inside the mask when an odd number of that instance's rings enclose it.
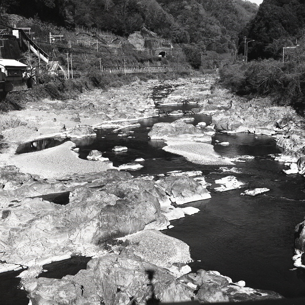
<instances>
[{"instance_id":1,"label":"whole wooded right bank, dark hill trees plus the bushes below","mask_svg":"<svg viewBox=\"0 0 305 305\"><path fill-rule=\"evenodd\" d=\"M269 96L305 115L305 1L264 0L256 17L240 34L248 45L248 63L225 65L221 81L232 91ZM285 49L283 56L283 48Z\"/></svg>"}]
</instances>

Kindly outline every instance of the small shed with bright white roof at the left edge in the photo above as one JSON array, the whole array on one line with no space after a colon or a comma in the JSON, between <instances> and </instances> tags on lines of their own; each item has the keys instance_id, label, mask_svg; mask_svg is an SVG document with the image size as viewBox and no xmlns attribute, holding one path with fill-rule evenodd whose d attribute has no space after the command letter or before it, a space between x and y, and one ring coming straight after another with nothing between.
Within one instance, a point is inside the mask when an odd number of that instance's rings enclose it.
<instances>
[{"instance_id":1,"label":"small shed with bright white roof at the left edge","mask_svg":"<svg viewBox=\"0 0 305 305\"><path fill-rule=\"evenodd\" d=\"M15 59L0 58L0 92L27 89L27 68Z\"/></svg>"}]
</instances>

